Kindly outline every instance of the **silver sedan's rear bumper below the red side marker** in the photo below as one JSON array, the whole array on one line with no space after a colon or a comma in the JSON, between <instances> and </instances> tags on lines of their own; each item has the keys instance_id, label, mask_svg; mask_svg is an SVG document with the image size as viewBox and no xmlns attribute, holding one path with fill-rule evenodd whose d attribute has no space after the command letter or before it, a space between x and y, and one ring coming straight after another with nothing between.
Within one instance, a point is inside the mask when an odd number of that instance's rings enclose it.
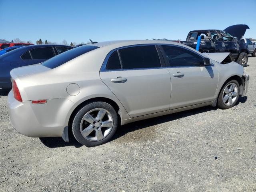
<instances>
[{"instance_id":1,"label":"silver sedan's rear bumper below the red side marker","mask_svg":"<svg viewBox=\"0 0 256 192\"><path fill-rule=\"evenodd\" d=\"M28 137L61 137L68 126L70 109L74 103L68 99L49 99L46 104L19 102L11 90L8 94L10 120L14 128Z\"/></svg>"}]
</instances>

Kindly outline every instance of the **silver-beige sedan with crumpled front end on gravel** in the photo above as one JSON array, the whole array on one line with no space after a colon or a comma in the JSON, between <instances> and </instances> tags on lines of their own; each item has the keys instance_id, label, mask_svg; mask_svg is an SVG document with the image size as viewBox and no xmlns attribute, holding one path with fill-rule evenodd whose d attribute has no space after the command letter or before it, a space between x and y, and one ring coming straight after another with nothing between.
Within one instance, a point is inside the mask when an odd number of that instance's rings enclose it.
<instances>
[{"instance_id":1,"label":"silver-beige sedan with crumpled front end on gravel","mask_svg":"<svg viewBox=\"0 0 256 192\"><path fill-rule=\"evenodd\" d=\"M10 72L10 119L26 136L68 142L70 129L81 144L96 146L119 125L207 105L233 107L249 76L222 60L168 41L80 46Z\"/></svg>"}]
</instances>

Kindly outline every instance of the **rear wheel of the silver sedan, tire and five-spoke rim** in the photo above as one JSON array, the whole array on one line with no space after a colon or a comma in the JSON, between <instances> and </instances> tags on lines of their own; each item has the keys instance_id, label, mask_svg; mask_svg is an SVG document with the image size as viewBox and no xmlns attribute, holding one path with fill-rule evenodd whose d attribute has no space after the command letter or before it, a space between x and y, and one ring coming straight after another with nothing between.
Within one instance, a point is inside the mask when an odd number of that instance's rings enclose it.
<instances>
[{"instance_id":1,"label":"rear wheel of the silver sedan, tire and five-spoke rim","mask_svg":"<svg viewBox=\"0 0 256 192\"><path fill-rule=\"evenodd\" d=\"M108 142L117 126L118 116L110 104L92 102L77 112L72 122L72 132L78 142L93 147Z\"/></svg>"}]
</instances>

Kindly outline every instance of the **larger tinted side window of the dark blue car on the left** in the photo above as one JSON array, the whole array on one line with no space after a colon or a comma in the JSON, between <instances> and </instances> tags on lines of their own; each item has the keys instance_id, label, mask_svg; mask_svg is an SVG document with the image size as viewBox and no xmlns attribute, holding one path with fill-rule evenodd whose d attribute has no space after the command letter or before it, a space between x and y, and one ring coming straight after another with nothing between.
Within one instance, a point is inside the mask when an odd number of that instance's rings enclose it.
<instances>
[{"instance_id":1,"label":"larger tinted side window of the dark blue car on the left","mask_svg":"<svg viewBox=\"0 0 256 192\"><path fill-rule=\"evenodd\" d=\"M49 59L55 56L52 47L42 47L30 50L32 59Z\"/></svg>"}]
</instances>

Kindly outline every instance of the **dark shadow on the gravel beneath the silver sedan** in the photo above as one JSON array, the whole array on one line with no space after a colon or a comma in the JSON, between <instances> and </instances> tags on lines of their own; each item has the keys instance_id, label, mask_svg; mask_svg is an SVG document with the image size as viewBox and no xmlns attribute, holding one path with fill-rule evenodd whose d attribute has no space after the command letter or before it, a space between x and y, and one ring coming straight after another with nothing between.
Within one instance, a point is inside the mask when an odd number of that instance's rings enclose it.
<instances>
[{"instance_id":1,"label":"dark shadow on the gravel beneath the silver sedan","mask_svg":"<svg viewBox=\"0 0 256 192\"><path fill-rule=\"evenodd\" d=\"M240 97L236 105L240 103L244 103L246 102L246 100L247 100L246 96ZM159 116L159 117L150 118L146 120L141 120L137 122L132 122L124 126L119 126L118 129L116 130L116 133L111 138L110 142L124 136L129 132L133 132L146 127L154 126L154 125L165 123L168 121L177 120L179 118L185 118L187 116L192 116L195 114L200 114L200 113L208 112L211 110L217 110L217 109L218 109L217 107L205 106L205 107L191 109L183 112L178 112L178 113ZM48 148L59 148L59 147L66 147L66 146L74 146L75 148L80 148L83 146L74 138L71 132L68 133L68 136L69 136L69 142L64 142L64 140L61 137L50 137L50 138L39 138L39 139Z\"/></svg>"}]
</instances>

